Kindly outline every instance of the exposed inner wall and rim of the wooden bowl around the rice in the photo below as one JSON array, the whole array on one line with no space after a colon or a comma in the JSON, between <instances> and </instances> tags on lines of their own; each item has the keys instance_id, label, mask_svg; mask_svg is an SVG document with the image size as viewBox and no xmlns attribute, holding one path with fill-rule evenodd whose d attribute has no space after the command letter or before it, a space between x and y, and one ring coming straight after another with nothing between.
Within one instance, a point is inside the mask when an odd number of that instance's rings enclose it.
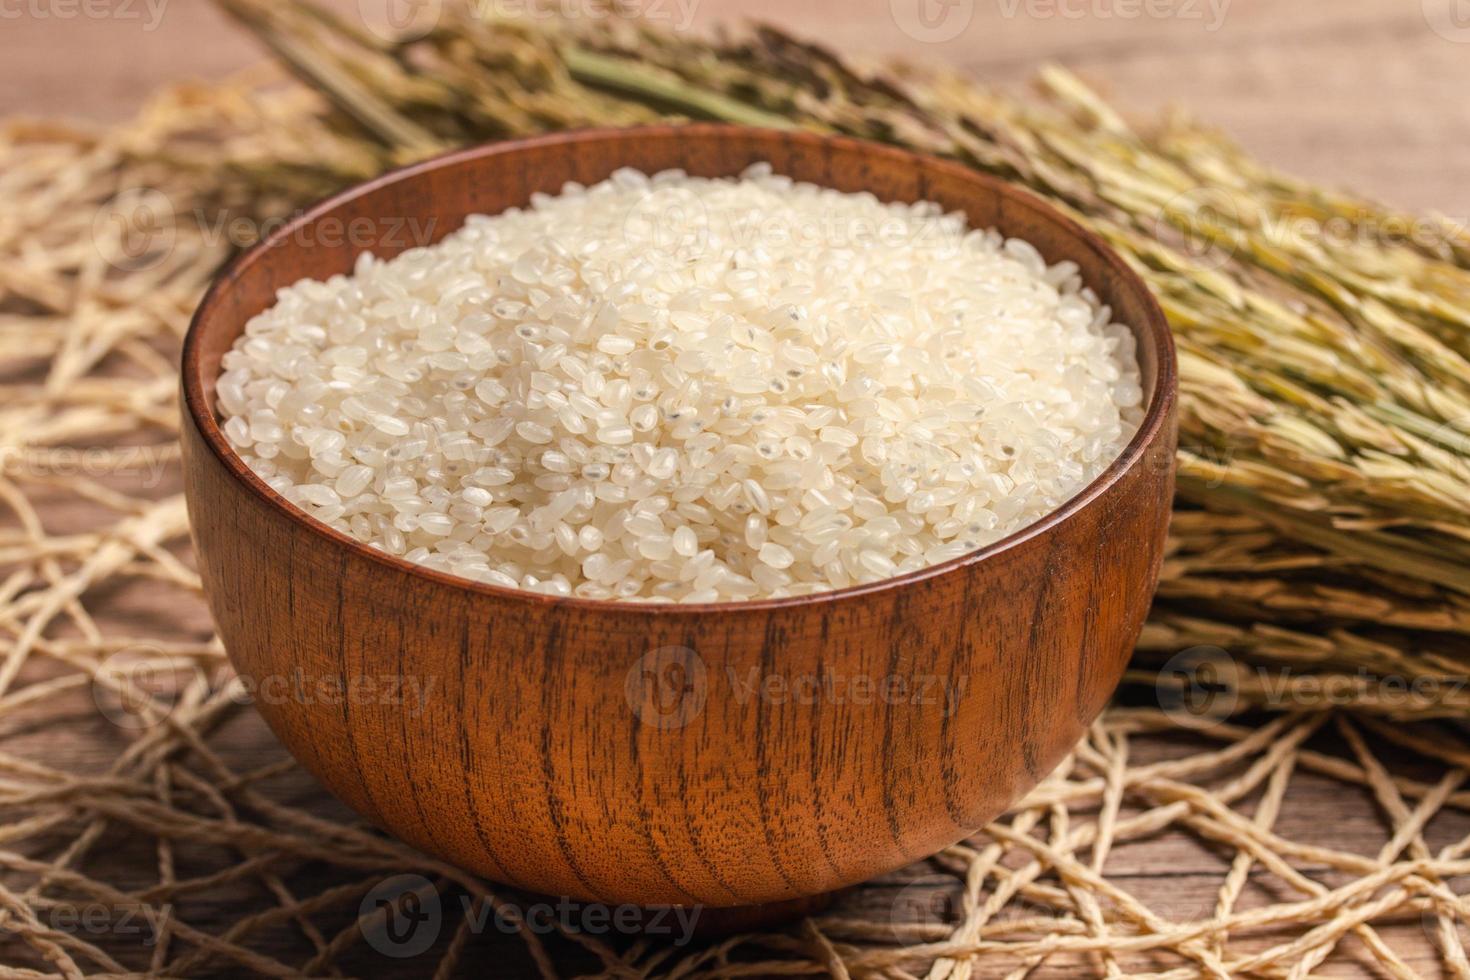
<instances>
[{"instance_id":1,"label":"exposed inner wall and rim of the wooden bowl around the rice","mask_svg":"<svg viewBox=\"0 0 1470 980\"><path fill-rule=\"evenodd\" d=\"M392 257L429 245L457 231L470 215L495 215L525 206L532 194L556 194L567 181L595 184L619 167L645 173L678 167L694 176L729 176L761 162L770 163L778 173L839 191L867 191L885 201L936 201L947 212L964 212L975 228L998 228L1007 237L1028 239L1048 263L1075 262L1083 282L1135 334L1147 411L1133 441L1097 480L1048 517L1001 542L878 583L741 605L803 602L889 588L980 560L1075 513L1133 466L1154 433L1167 425L1176 386L1167 323L1138 275L1092 232L1028 191L957 163L858 140L706 123L576 131L487 144L394 170L328 198L237 259L210 288L184 347L187 411L206 444L243 482L340 544L459 588L550 599L412 566L369 550L287 504L244 466L216 422L215 381L220 359L244 332L247 320L275 303L278 289L300 279L350 273L363 251ZM697 611L701 607L673 604L648 608Z\"/></svg>"}]
</instances>

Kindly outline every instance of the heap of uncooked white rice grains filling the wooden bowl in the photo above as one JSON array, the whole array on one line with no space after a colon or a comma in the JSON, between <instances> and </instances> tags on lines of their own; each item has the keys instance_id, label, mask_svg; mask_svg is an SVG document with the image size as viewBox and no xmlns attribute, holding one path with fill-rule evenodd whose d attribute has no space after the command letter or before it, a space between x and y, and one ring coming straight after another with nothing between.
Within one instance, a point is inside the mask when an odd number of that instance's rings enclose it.
<instances>
[{"instance_id":1,"label":"heap of uncooked white rice grains filling the wooden bowl","mask_svg":"<svg viewBox=\"0 0 1470 980\"><path fill-rule=\"evenodd\" d=\"M1142 417L1070 263L751 167L620 170L301 281L219 379L293 504L553 595L784 597L957 558L1060 507Z\"/></svg>"}]
</instances>

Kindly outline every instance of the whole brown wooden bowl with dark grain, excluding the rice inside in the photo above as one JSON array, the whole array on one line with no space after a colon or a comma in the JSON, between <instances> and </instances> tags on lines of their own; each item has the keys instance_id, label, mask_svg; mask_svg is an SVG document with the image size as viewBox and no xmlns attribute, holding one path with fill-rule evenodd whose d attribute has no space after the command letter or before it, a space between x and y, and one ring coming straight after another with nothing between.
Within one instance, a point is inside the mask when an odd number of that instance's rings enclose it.
<instances>
[{"instance_id":1,"label":"whole brown wooden bowl with dark grain, excluding the rice inside","mask_svg":"<svg viewBox=\"0 0 1470 980\"><path fill-rule=\"evenodd\" d=\"M814 597L644 605L472 583L373 551L272 492L216 425L220 356L297 279L619 166L714 176L760 160L844 191L935 200L1076 262L1138 336L1148 408L1122 458L1047 519L947 564ZM204 588L281 741L415 846L603 902L810 896L998 815L1117 685L1173 495L1173 344L1123 260L1016 187L811 134L569 132L390 173L220 275L190 328L182 383Z\"/></svg>"}]
</instances>

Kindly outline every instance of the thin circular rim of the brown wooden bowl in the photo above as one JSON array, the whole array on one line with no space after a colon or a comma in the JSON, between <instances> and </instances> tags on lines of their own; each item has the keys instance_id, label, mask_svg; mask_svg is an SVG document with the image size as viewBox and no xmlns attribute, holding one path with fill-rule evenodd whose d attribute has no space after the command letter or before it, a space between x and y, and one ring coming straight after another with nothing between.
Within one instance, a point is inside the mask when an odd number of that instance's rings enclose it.
<instances>
[{"instance_id":1,"label":"thin circular rim of the brown wooden bowl","mask_svg":"<svg viewBox=\"0 0 1470 980\"><path fill-rule=\"evenodd\" d=\"M1138 335L1148 335L1154 344L1155 359L1157 359L1157 376L1154 383L1152 395L1150 397L1148 407L1144 413L1144 420L1139 423L1138 432L1123 448L1123 451L1114 458L1107 469L1104 469L1097 478L1094 478L1086 486L1073 494L1061 507L1050 511L1044 517L1020 527L1019 530L995 541L983 548L972 551L969 554L960 555L957 558L950 558L939 564L926 566L914 572L906 572L898 576L888 579L879 579L878 582L864 582L860 585L850 585L841 589L829 589L826 592L813 592L808 595L791 595L779 598L754 598L754 599L731 599L723 602L637 602L628 599L588 599L582 597L560 597L547 595L544 592L532 592L529 589L509 588L503 585L491 585L487 582L476 582L473 579L466 579L450 572L440 572L437 569L429 569L426 566L406 561L397 555L391 555L378 548L372 548L362 541L343 533L326 523L318 520L316 517L307 514L291 504L285 497L270 489L270 486L254 473L238 453L229 445L225 438L223 429L215 419L215 413L209 406L209 400L204 395L204 376L203 376L203 354L201 354L201 336L207 332L210 322L213 320L215 307L220 303L222 297L234 287L235 281L243 278L248 269L269 250L281 247L282 242L293 238L303 228L310 223L329 216L332 212L340 209L348 201L357 200L368 194L376 192L390 184L410 182L415 178L426 173L429 170L441 169L445 166L454 166L478 159L488 159L497 156L514 156L528 148L545 148L545 147L566 147L573 148L579 144L589 143L607 143L617 144L623 141L634 141L639 138L648 138L656 134L669 135L669 132L678 132L681 138L694 140L725 140L735 137L763 137L763 138L781 138L785 141L804 141L810 147L820 150L844 150L850 153L867 154L875 157L888 157L892 162L906 162L910 165L922 163L929 170L950 172L951 176L960 178L963 181L988 185L989 191L1001 198L1007 206L1019 206L1029 209L1030 212L1039 215L1041 217L1058 225L1070 237L1073 237L1078 244L1092 251L1116 276L1122 289L1132 289L1144 300L1144 322L1135 325L1135 332ZM448 232L448 234L453 234ZM604 611L604 613L625 613L625 614L647 614L647 616L701 616L710 613L767 613L778 610L798 608L810 604L819 602L841 602L845 599L856 599L861 597L872 597L875 594L886 592L889 589L900 589L907 585L914 585L925 582L928 579L958 573L961 570L970 569L972 566L983 564L991 558L1003 555L1008 551L1019 548L1020 545L1047 535L1053 529L1064 525L1072 517L1092 505L1101 497L1104 497L1122 478L1125 473L1132 470L1141 461L1147 450L1155 442L1160 430L1170 425L1173 407L1177 398L1179 386L1179 369L1175 351L1173 334L1169 329L1169 322L1164 317L1163 309L1158 306L1157 297L1154 297L1152 289L1144 282L1144 279L1127 264L1127 262L1113 250L1100 235L1083 228L1079 222L1070 216L1061 213L1057 207L1047 203L1030 190L997 178L991 173L976 170L973 167L956 163L942 157L914 153L910 150L903 150L882 143L873 143L870 140L858 140L854 137L828 135L816 134L801 129L770 129L761 126L741 126L731 123L714 123L714 122L697 122L697 123L664 123L664 125L648 125L648 126L598 126L598 128L581 128L581 129L563 129L550 134L541 134L535 137L523 137L516 140L498 140L491 143L481 143L470 147L462 147L442 153L407 166L394 167L387 170L369 181L354 184L353 187L344 188L310 207L300 210L291 220L281 223L270 235L262 241L251 245L248 250L235 256L229 263L220 269L200 300L198 307L194 310L190 319L188 331L184 336L182 356L181 356L181 388L182 388L182 406L188 416L188 420L198 432L204 445L215 455L215 458L225 467L225 470L234 476L240 483L245 486L256 498L263 504L275 510L278 514L287 520L304 526L312 533L323 538L326 542L347 550L359 558L366 558L369 561L385 566L390 570L406 573L434 582L435 585L459 589L467 595L492 598L498 601L510 602L525 602L534 607L556 607L556 608L576 608L582 611Z\"/></svg>"}]
</instances>

